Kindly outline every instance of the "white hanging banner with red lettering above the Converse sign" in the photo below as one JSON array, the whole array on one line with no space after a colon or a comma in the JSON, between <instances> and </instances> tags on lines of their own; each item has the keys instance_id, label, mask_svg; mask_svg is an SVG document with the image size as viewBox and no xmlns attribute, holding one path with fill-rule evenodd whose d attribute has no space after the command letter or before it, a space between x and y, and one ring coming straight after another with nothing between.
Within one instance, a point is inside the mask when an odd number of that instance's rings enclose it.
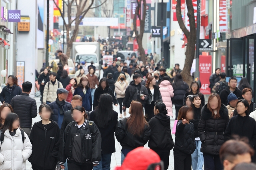
<instances>
[{"instance_id":1,"label":"white hanging banner with red lettering above the Converse sign","mask_svg":"<svg viewBox=\"0 0 256 170\"><path fill-rule=\"evenodd\" d=\"M220 0L220 32L228 32L228 10L226 0Z\"/></svg>"}]
</instances>

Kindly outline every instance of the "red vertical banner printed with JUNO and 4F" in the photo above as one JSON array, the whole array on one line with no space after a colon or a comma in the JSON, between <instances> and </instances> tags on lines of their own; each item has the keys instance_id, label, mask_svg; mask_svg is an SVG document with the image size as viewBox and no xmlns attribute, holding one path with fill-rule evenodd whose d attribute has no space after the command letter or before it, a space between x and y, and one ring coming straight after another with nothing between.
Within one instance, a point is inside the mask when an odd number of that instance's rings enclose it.
<instances>
[{"instance_id":1,"label":"red vertical banner printed with JUNO and 4F","mask_svg":"<svg viewBox=\"0 0 256 170\"><path fill-rule=\"evenodd\" d=\"M200 88L200 92L202 94L211 94L211 89L209 88L209 85L210 85L209 78L212 74L212 56L211 55L199 56L199 72L200 72L200 82L202 85L202 87Z\"/></svg>"}]
</instances>

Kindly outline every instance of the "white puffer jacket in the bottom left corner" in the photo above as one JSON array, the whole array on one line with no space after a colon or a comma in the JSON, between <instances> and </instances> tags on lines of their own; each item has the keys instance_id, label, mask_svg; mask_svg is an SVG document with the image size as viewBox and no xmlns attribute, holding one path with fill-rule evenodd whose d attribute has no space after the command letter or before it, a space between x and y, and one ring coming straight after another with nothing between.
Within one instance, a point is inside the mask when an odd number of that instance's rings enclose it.
<instances>
[{"instance_id":1,"label":"white puffer jacket in the bottom left corner","mask_svg":"<svg viewBox=\"0 0 256 170\"><path fill-rule=\"evenodd\" d=\"M22 135L20 129L12 137L9 130L6 130L4 142L0 143L0 170L26 170L26 160L32 154L32 145L25 134L25 140L22 144Z\"/></svg>"}]
</instances>

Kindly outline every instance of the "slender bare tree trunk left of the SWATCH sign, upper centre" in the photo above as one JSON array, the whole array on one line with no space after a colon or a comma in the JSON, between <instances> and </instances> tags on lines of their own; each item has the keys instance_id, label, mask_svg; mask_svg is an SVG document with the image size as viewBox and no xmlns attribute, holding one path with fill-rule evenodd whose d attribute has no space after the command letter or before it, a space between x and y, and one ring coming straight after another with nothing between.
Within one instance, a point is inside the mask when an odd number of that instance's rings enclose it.
<instances>
[{"instance_id":1,"label":"slender bare tree trunk left of the SWATCH sign, upper centre","mask_svg":"<svg viewBox=\"0 0 256 170\"><path fill-rule=\"evenodd\" d=\"M136 0L136 1L137 1L138 6L136 7L135 16L133 19L133 27L134 27L133 31L135 32L135 36L136 36L137 43L139 46L138 51L140 53L141 61L143 61L143 63L146 64L146 55L145 55L145 50L142 47L142 38L143 38L143 34L144 34L147 4L146 4L146 0ZM141 2L143 2L143 9L144 9L143 13L142 13L142 18L141 18L141 13L140 13L140 11L142 11ZM138 31L137 31L137 24L136 24L137 16L140 20L140 33L138 33Z\"/></svg>"}]
</instances>

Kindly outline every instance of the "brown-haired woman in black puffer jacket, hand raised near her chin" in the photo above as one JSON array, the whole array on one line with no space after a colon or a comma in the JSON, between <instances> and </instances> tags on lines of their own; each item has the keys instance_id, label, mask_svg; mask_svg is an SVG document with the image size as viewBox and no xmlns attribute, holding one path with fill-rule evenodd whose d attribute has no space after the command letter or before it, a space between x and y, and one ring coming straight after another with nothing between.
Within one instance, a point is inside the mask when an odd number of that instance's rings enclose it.
<instances>
[{"instance_id":1,"label":"brown-haired woman in black puffer jacket, hand raised near her chin","mask_svg":"<svg viewBox=\"0 0 256 170\"><path fill-rule=\"evenodd\" d=\"M193 111L189 106L182 106L179 110L173 149L174 170L191 170L191 154L196 149Z\"/></svg>"}]
</instances>

